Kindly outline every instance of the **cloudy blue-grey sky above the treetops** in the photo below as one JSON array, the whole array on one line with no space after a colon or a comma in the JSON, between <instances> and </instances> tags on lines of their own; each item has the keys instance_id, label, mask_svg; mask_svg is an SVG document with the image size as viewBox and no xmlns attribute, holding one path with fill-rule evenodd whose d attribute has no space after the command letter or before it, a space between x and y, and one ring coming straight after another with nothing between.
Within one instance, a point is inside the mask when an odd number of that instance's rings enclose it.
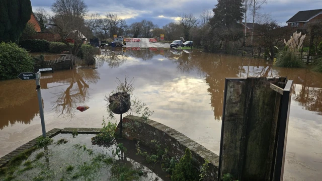
<instances>
[{"instance_id":1,"label":"cloudy blue-grey sky above the treetops","mask_svg":"<svg viewBox=\"0 0 322 181\"><path fill-rule=\"evenodd\" d=\"M116 13L128 24L142 19L151 20L159 26L176 21L179 14L192 13L199 17L203 10L212 10L216 0L84 0L90 13ZM31 0L33 10L49 10L54 0ZM298 11L322 9L321 0L268 0L261 13L270 13L279 23L285 23Z\"/></svg>"}]
</instances>

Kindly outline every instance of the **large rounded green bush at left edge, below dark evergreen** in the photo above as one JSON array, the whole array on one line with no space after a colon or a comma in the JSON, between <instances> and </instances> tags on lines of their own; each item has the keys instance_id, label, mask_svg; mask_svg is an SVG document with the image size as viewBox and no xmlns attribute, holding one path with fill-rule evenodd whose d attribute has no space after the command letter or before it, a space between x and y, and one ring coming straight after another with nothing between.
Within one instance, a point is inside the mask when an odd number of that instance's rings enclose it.
<instances>
[{"instance_id":1,"label":"large rounded green bush at left edge, below dark evergreen","mask_svg":"<svg viewBox=\"0 0 322 181\"><path fill-rule=\"evenodd\" d=\"M15 43L0 44L0 80L16 78L21 72L34 70L32 56Z\"/></svg>"}]
</instances>

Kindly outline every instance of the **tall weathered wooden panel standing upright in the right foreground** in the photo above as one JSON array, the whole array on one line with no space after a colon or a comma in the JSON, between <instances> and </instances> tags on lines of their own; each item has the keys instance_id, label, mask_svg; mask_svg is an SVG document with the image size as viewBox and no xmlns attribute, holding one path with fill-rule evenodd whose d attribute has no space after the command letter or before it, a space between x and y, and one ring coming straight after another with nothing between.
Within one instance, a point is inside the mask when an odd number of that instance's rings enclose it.
<instances>
[{"instance_id":1,"label":"tall weathered wooden panel standing upright in the right foreground","mask_svg":"<svg viewBox=\"0 0 322 181\"><path fill-rule=\"evenodd\" d=\"M283 180L292 80L226 78L218 179Z\"/></svg>"}]
</instances>

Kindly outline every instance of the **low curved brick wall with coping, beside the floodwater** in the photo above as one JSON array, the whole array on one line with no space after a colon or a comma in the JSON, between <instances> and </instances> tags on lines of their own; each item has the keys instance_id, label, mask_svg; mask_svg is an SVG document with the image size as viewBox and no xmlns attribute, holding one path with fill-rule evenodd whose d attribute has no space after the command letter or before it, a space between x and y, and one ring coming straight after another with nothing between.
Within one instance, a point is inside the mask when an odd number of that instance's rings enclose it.
<instances>
[{"instance_id":1,"label":"low curved brick wall with coping, beside the floodwater","mask_svg":"<svg viewBox=\"0 0 322 181\"><path fill-rule=\"evenodd\" d=\"M120 128L119 124L118 133ZM169 149L170 156L177 159L180 159L185 154L186 148L189 148L199 168L201 168L205 159L210 161L211 176L205 180L218 180L219 156L168 126L152 120L145 121L136 116L126 116L123 118L122 137L129 140L138 140L140 144L148 147L151 146L151 140L156 140L163 147Z\"/></svg>"}]
</instances>

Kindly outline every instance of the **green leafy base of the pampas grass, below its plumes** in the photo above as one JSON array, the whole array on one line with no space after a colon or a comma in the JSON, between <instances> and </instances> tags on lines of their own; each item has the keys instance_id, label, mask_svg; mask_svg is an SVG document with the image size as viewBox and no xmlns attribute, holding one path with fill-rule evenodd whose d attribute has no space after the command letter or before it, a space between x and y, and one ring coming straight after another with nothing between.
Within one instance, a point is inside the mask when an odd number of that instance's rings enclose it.
<instances>
[{"instance_id":1,"label":"green leafy base of the pampas grass, below its plumes","mask_svg":"<svg viewBox=\"0 0 322 181\"><path fill-rule=\"evenodd\" d=\"M304 66L301 56L297 52L283 50L276 58L276 66L300 68Z\"/></svg>"}]
</instances>

